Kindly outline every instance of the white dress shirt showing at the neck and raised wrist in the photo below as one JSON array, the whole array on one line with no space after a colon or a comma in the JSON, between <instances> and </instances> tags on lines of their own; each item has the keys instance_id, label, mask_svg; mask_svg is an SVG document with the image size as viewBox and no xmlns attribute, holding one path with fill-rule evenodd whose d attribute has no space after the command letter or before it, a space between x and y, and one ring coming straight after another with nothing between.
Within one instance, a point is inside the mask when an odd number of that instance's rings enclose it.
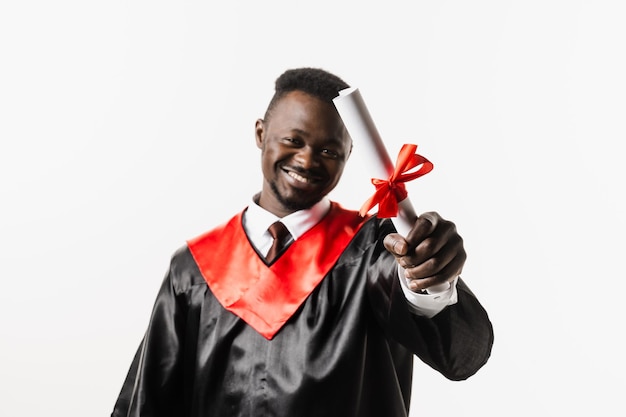
<instances>
[{"instance_id":1,"label":"white dress shirt showing at the neck and raised wrist","mask_svg":"<svg viewBox=\"0 0 626 417\"><path fill-rule=\"evenodd\" d=\"M280 220L295 241L322 220L329 210L330 200L323 198L309 209L299 210L279 218L253 201L243 215L243 228L259 253L266 255L273 241L272 236L267 231L272 223ZM419 316L433 317L446 306L457 302L456 283L458 278L452 282L447 290L432 294L420 294L411 291L408 280L404 277L404 269L400 266L398 266L398 279L409 308Z\"/></svg>"}]
</instances>

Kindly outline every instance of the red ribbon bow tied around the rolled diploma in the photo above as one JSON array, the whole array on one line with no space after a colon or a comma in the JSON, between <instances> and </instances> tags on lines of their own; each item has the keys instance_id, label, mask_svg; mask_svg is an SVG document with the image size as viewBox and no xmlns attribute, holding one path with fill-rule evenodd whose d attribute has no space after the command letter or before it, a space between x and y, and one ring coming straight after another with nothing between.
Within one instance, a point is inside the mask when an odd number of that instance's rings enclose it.
<instances>
[{"instance_id":1,"label":"red ribbon bow tied around the rolled diploma","mask_svg":"<svg viewBox=\"0 0 626 417\"><path fill-rule=\"evenodd\" d=\"M417 145L402 145L396 167L389 179L372 178L376 192L361 206L361 216L365 216L376 204L378 204L378 217L387 218L398 215L398 202L408 196L404 183L426 175L433 169L433 164L422 155L416 154L416 150ZM409 172L420 165L417 171Z\"/></svg>"}]
</instances>

